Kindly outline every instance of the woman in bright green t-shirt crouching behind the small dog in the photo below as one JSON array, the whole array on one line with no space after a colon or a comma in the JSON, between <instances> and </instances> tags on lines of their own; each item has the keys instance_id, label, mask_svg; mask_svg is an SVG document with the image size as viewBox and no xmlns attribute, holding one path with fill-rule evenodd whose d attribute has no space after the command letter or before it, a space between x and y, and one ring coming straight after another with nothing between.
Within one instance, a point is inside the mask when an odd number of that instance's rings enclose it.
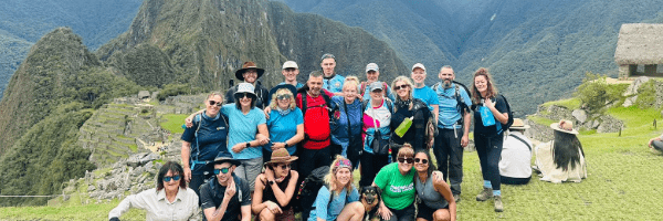
<instances>
[{"instance_id":1,"label":"woman in bright green t-shirt crouching behind the small dog","mask_svg":"<svg viewBox=\"0 0 663 221\"><path fill-rule=\"evenodd\" d=\"M378 213L382 220L414 220L414 150L406 143L397 155L398 162L380 169L373 186L382 190L382 200Z\"/></svg>"}]
</instances>

